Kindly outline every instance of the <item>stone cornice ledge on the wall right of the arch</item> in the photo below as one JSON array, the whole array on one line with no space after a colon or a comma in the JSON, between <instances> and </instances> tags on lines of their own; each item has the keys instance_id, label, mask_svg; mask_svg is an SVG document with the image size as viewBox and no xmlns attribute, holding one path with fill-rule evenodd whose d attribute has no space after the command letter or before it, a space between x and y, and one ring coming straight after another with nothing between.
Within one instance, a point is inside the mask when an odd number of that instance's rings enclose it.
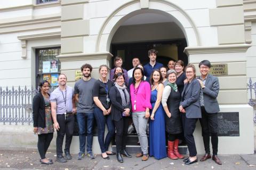
<instances>
[{"instance_id":1,"label":"stone cornice ledge on the wall right of the arch","mask_svg":"<svg viewBox=\"0 0 256 170\"><path fill-rule=\"evenodd\" d=\"M210 53L239 53L239 52L246 52L249 47L251 47L250 44L197 46L197 47L186 47L184 52L187 55L210 54Z\"/></svg>"}]
</instances>

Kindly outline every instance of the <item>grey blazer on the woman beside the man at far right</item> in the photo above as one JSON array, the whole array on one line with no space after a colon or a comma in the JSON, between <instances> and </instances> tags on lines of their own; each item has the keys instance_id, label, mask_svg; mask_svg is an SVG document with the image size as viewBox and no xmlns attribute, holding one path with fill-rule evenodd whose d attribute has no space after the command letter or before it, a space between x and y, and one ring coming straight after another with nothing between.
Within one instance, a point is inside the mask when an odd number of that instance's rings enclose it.
<instances>
[{"instance_id":1,"label":"grey blazer on the woman beside the man at far right","mask_svg":"<svg viewBox=\"0 0 256 170\"><path fill-rule=\"evenodd\" d=\"M184 96L184 101L181 101L180 105L185 108L187 118L201 118L202 115L199 101L201 91L200 83L197 79L193 79L188 87L187 85L187 83L184 85L184 90L181 94L182 97Z\"/></svg>"}]
</instances>

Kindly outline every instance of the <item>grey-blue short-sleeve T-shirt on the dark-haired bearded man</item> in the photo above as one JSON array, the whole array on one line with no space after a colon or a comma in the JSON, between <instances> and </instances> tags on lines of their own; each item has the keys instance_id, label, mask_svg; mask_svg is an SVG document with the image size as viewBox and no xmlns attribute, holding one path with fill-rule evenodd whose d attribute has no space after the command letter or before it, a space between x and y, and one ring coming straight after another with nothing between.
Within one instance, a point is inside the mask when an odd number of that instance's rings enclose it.
<instances>
[{"instance_id":1,"label":"grey-blue short-sleeve T-shirt on the dark-haired bearded man","mask_svg":"<svg viewBox=\"0 0 256 170\"><path fill-rule=\"evenodd\" d=\"M77 112L93 112L93 86L96 81L95 78L88 81L79 79L75 83L75 94L78 94Z\"/></svg>"}]
</instances>

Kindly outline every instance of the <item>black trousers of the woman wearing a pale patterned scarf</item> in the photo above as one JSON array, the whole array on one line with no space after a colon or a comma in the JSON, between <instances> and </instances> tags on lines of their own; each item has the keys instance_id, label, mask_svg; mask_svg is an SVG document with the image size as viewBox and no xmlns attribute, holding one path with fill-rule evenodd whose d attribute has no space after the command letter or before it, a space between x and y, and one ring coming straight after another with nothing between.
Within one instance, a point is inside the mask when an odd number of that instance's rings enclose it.
<instances>
[{"instance_id":1,"label":"black trousers of the woman wearing a pale patterned scarf","mask_svg":"<svg viewBox=\"0 0 256 170\"><path fill-rule=\"evenodd\" d=\"M118 121L114 120L114 124L116 126L116 152L121 152L126 149L129 117L123 117Z\"/></svg>"}]
</instances>

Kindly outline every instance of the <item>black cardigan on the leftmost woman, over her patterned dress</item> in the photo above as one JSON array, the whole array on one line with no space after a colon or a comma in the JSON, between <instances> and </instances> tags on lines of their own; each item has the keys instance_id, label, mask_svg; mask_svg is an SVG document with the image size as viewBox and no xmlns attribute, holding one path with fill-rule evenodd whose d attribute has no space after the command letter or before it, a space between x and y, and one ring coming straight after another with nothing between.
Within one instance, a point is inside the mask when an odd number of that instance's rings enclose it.
<instances>
[{"instance_id":1,"label":"black cardigan on the leftmost woman, over her patterned dress","mask_svg":"<svg viewBox=\"0 0 256 170\"><path fill-rule=\"evenodd\" d=\"M33 120L34 127L45 127L45 102L41 92L37 93L33 99Z\"/></svg>"}]
</instances>

